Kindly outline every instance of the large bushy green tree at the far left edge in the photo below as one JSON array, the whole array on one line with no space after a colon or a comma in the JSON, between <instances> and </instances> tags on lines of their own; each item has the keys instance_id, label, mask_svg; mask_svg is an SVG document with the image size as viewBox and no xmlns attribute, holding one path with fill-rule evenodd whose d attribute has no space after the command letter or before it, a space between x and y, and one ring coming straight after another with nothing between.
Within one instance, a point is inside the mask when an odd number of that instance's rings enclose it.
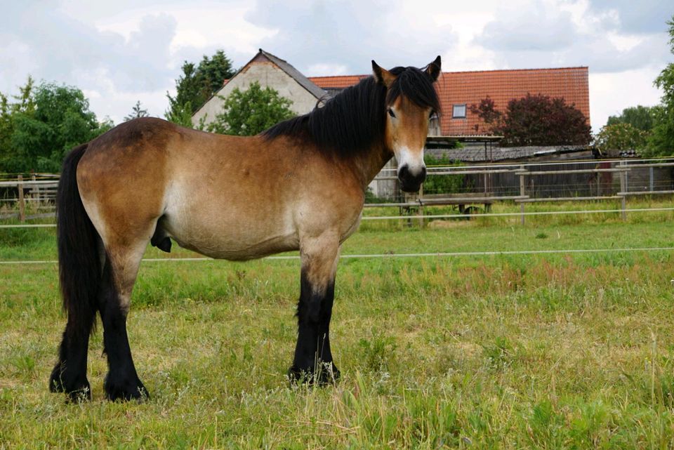
<instances>
[{"instance_id":1,"label":"large bushy green tree at the far left edge","mask_svg":"<svg viewBox=\"0 0 674 450\"><path fill-rule=\"evenodd\" d=\"M0 171L59 171L72 147L112 127L99 124L82 91L29 79L14 103L0 99Z\"/></svg>"}]
</instances>

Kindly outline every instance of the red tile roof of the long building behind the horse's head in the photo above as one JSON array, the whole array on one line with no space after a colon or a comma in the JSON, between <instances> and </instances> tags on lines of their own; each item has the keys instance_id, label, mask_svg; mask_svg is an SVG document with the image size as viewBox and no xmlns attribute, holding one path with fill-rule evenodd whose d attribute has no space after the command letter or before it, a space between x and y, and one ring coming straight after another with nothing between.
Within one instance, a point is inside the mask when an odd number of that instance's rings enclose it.
<instances>
[{"instance_id":1,"label":"red tile roof of the long building behind the horse's head","mask_svg":"<svg viewBox=\"0 0 674 450\"><path fill-rule=\"evenodd\" d=\"M309 77L321 88L346 88L356 84L366 75L340 77ZM574 104L590 121L590 92L588 67L562 67L558 69L488 70L480 72L442 72L437 83L442 117L443 135L474 135L489 130L470 105L477 105L489 96L497 110L505 110L508 101L522 98L527 93L562 97L567 104ZM452 119L453 105L466 105L464 119ZM477 126L477 129L475 128Z\"/></svg>"}]
</instances>

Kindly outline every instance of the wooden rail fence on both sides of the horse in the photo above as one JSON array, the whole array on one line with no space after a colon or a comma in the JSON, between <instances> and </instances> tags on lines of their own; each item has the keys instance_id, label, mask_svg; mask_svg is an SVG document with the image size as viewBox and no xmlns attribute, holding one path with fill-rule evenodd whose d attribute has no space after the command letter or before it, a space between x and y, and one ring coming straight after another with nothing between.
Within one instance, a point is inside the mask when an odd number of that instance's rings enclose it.
<instances>
[{"instance_id":1,"label":"wooden rail fence on both sides of the horse","mask_svg":"<svg viewBox=\"0 0 674 450\"><path fill-rule=\"evenodd\" d=\"M374 183L397 183L395 168L384 168ZM18 218L20 222L54 216L55 193L58 175L35 174L32 176L0 174L0 219ZM519 205L520 212L506 214L520 217L524 224L527 204L560 201L620 200L618 212L626 219L629 197L673 196L674 158L668 159L592 159L581 161L542 161L534 163L482 164L472 166L437 166L428 168L428 180L456 178L461 188L454 192L422 191L405 196L395 190L387 201L372 201L366 208L397 207L399 216L366 216L365 220L418 218L421 223L430 218L461 218L461 215L433 214L424 211L428 206L458 206L460 213L475 214L470 206L484 206L481 216L491 214L491 205L510 202ZM429 185L431 183L425 183ZM436 183L438 185L438 183ZM456 183L455 183L456 185ZM416 210L415 210L416 209ZM602 210L603 211L603 210ZM431 212L431 214L429 214ZM544 212L544 211L538 211ZM594 211L568 211L563 213L593 213ZM416 215L410 215L410 214Z\"/></svg>"}]
</instances>

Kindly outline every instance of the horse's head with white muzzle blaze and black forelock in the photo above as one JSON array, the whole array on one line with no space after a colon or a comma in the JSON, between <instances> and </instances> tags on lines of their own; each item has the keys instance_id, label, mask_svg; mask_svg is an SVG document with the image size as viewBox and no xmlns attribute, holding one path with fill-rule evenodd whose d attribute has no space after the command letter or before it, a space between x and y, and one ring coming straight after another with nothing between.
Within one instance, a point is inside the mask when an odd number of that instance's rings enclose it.
<instances>
[{"instance_id":1,"label":"horse's head with white muzzle blaze and black forelock","mask_svg":"<svg viewBox=\"0 0 674 450\"><path fill-rule=\"evenodd\" d=\"M386 86L385 144L398 161L398 180L405 192L416 192L426 178L423 147L428 122L440 112L433 83L440 75L440 56L425 69L385 70L372 61L374 79Z\"/></svg>"}]
</instances>

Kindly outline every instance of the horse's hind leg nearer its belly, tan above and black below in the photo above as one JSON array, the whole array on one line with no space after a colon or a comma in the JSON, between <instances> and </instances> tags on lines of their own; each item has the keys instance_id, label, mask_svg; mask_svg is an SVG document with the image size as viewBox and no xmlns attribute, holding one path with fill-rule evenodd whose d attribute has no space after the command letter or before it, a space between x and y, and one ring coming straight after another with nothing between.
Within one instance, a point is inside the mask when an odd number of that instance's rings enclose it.
<instances>
[{"instance_id":1,"label":"horse's hind leg nearer its belly, tan above and black below","mask_svg":"<svg viewBox=\"0 0 674 450\"><path fill-rule=\"evenodd\" d=\"M108 243L105 246L107 258L103 267L99 311L103 322L103 348L109 367L103 388L105 396L113 401L149 397L136 373L126 334L131 291L147 240L138 239L133 244Z\"/></svg>"}]
</instances>

